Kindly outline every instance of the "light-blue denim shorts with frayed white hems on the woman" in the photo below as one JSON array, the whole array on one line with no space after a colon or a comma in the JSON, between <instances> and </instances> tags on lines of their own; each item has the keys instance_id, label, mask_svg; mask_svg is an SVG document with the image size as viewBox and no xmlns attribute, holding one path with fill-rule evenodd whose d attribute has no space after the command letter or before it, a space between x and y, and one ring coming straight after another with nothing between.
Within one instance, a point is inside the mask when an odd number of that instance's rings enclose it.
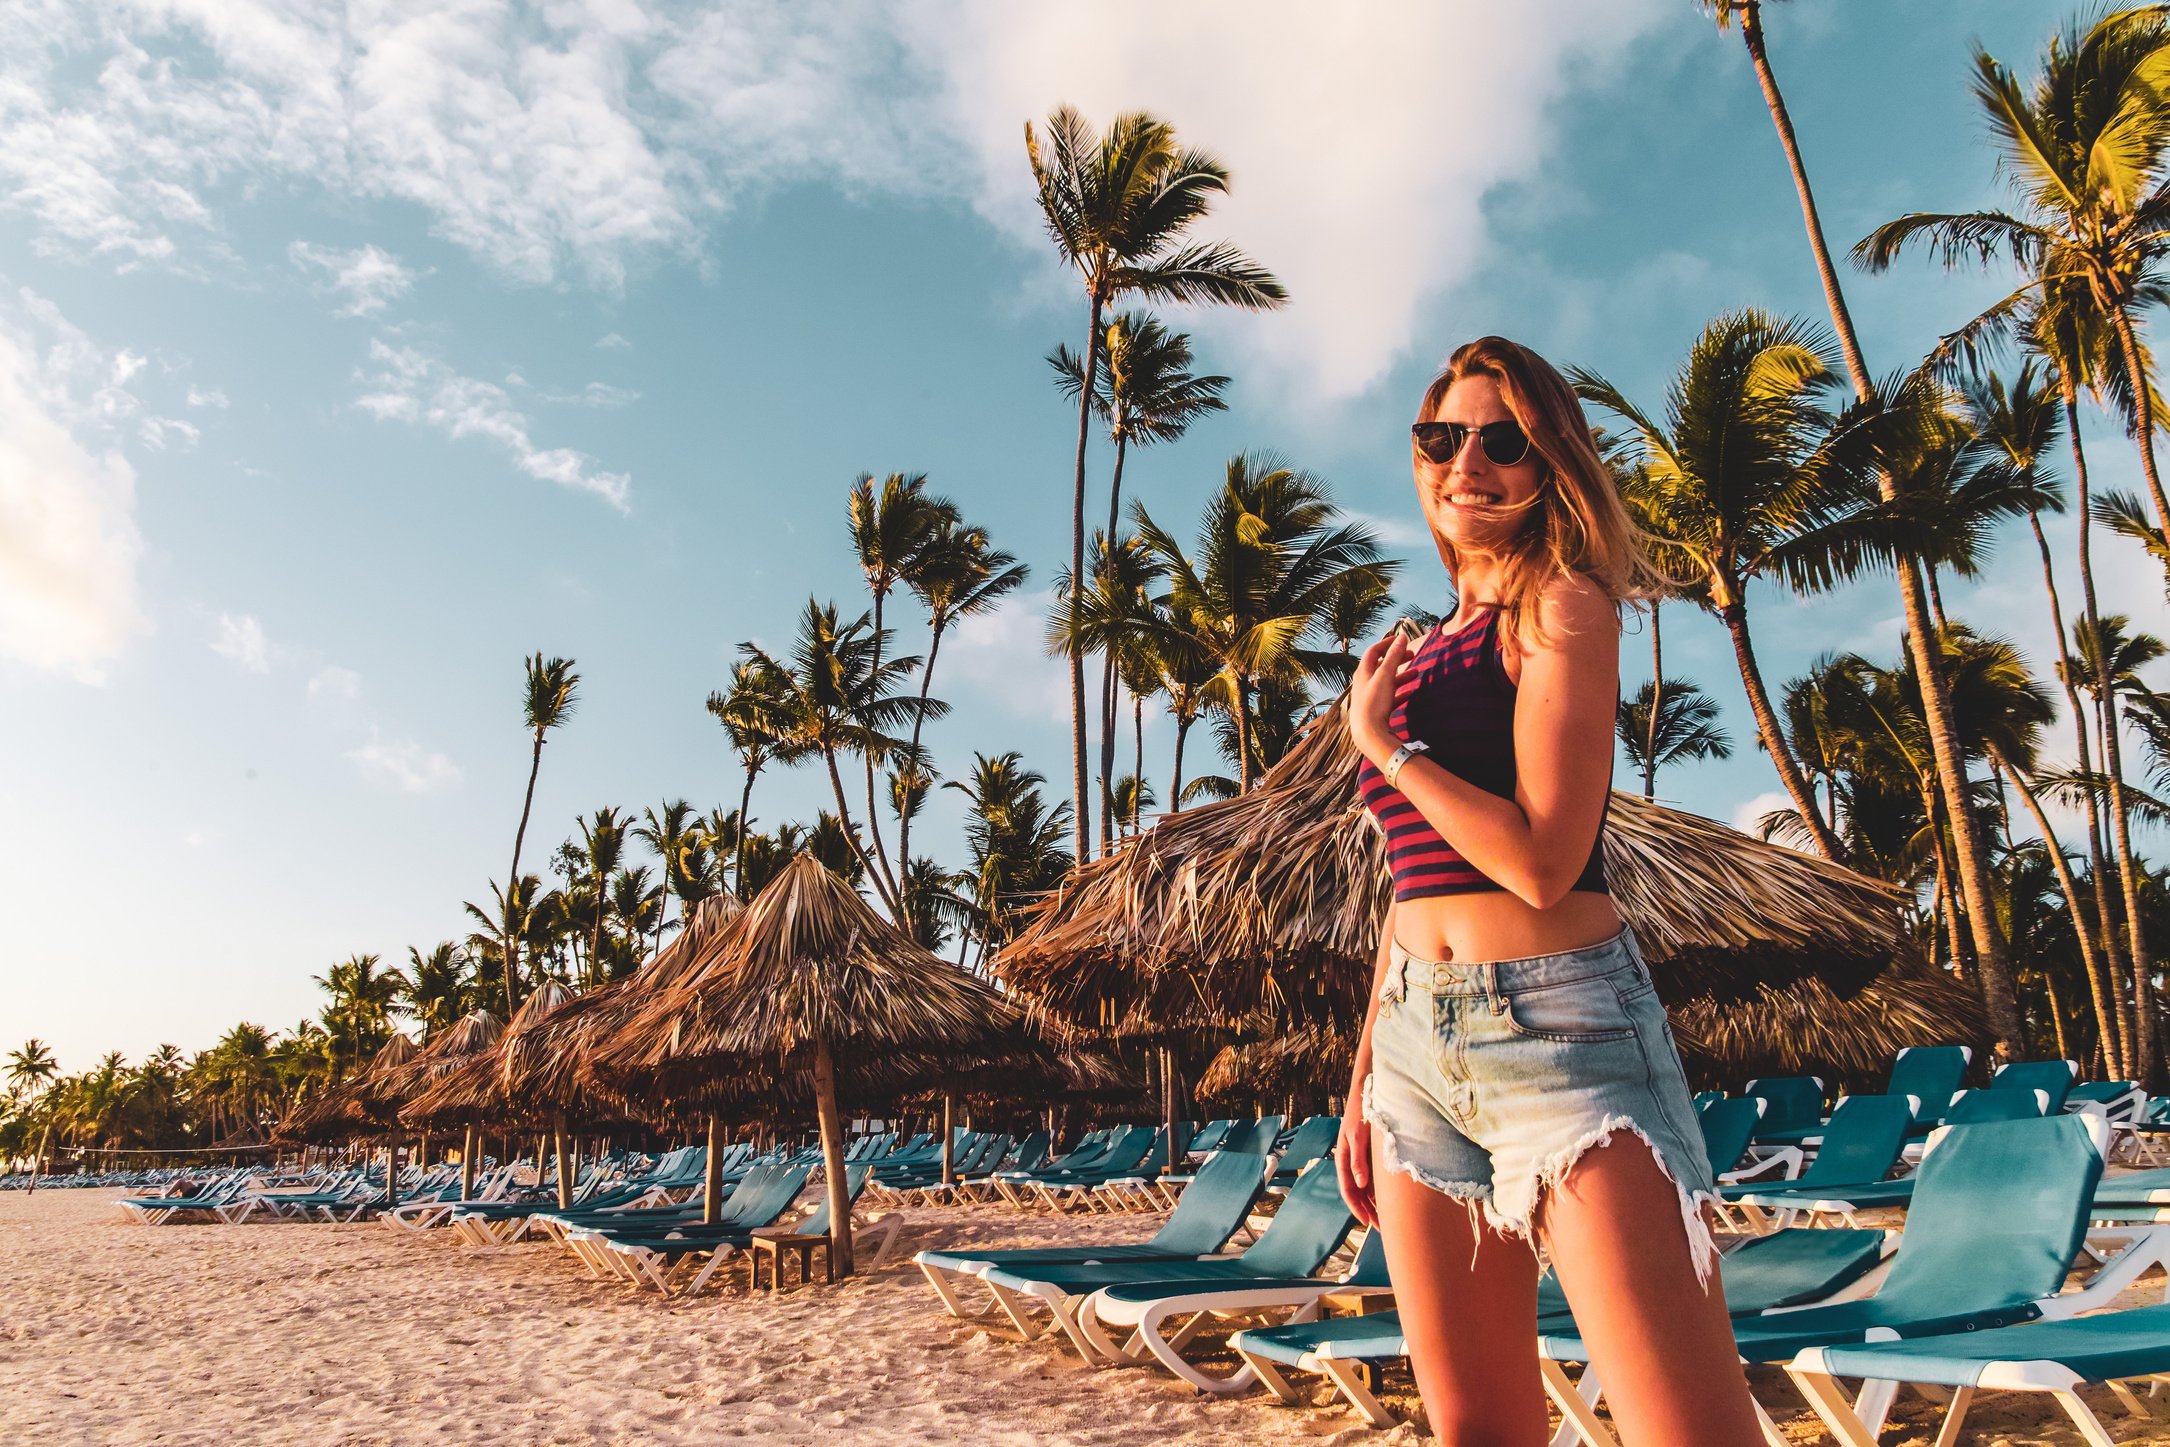
<instances>
[{"instance_id":1,"label":"light-blue denim shorts with frayed white hems on the woman","mask_svg":"<svg viewBox=\"0 0 2170 1447\"><path fill-rule=\"evenodd\" d=\"M1625 929L1582 950L1437 963L1400 944L1363 1091L1384 1169L1469 1202L1541 1252L1541 1195L1628 1130L1680 1191L1699 1278L1716 1245L1703 1132L1664 1004Z\"/></svg>"}]
</instances>

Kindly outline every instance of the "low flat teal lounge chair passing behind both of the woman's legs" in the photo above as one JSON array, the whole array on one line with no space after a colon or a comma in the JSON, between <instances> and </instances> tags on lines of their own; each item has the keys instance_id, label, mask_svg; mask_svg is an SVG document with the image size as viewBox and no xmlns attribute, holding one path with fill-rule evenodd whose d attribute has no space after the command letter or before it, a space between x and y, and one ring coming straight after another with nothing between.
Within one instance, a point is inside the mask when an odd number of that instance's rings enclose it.
<instances>
[{"instance_id":1,"label":"low flat teal lounge chair passing behind both of the woman's legs","mask_svg":"<svg viewBox=\"0 0 2170 1447\"><path fill-rule=\"evenodd\" d=\"M1890 1254L1892 1243L1892 1232L1881 1230L1779 1230L1751 1237L1729 1250L1721 1265L1725 1308L1745 1317L1851 1293ZM1539 1282L1539 1323L1571 1321L1565 1312L1567 1297L1547 1273ZM1295 1401L1287 1378L1291 1369L1315 1371L1374 1427L1393 1425L1393 1414L1380 1406L1363 1369L1408 1356L1400 1312L1248 1328L1230 1345L1280 1401Z\"/></svg>"}]
</instances>

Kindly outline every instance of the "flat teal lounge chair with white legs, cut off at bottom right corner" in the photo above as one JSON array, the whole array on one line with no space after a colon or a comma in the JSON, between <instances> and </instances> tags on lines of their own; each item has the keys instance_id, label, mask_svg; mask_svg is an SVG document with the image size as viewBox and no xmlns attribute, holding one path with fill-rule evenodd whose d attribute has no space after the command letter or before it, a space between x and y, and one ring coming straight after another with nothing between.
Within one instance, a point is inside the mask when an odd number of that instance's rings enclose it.
<instances>
[{"instance_id":1,"label":"flat teal lounge chair with white legs, cut off at bottom right corner","mask_svg":"<svg viewBox=\"0 0 2170 1447\"><path fill-rule=\"evenodd\" d=\"M2170 1306L2022 1321L1949 1336L1808 1347L1786 1367L1786 1375L1842 1447L1877 1447L1877 1432L1840 1393L1838 1378L1860 1378L1886 1393L1901 1382L1949 1388L1951 1408L1944 1412L1938 1443L1960 1440L1960 1425L1977 1393L2016 1391L2048 1393L2079 1427L2081 1438L2092 1447L2111 1447L2109 1430L2081 1401L2077 1388L2101 1382L2129 1412L2150 1419L2153 1412L2122 1378L2161 1373L2170 1373Z\"/></svg>"}]
</instances>

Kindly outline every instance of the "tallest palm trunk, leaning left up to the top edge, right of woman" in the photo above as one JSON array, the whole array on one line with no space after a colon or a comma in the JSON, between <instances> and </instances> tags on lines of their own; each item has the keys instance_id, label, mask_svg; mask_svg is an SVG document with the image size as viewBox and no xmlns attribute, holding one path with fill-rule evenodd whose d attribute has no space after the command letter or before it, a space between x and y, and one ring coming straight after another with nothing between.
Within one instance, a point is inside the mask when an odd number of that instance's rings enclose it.
<instances>
[{"instance_id":1,"label":"tallest palm trunk, leaning left up to the top edge, right of woman","mask_svg":"<svg viewBox=\"0 0 2170 1447\"><path fill-rule=\"evenodd\" d=\"M1868 375L1868 362L1862 360L1862 343L1853 332L1853 317L1847 312L1847 297L1838 286L1838 267L1831 265L1831 247L1823 239L1816 193L1808 184L1808 167L1801 161L1801 145L1792 132L1792 117L1786 113L1786 98L1777 89L1777 76L1771 72L1771 56L1764 50L1762 4L1760 0L1747 0L1738 13L1740 39L1747 43L1749 61L1756 67L1756 82L1762 87L1771 124L1777 126L1777 139L1792 171L1792 189L1801 202L1801 226L1808 230L1808 245L1816 258L1816 278L1823 282L1823 299L1831 310L1831 330L1838 332L1838 347L1847 358L1853 395L1860 401L1868 401L1875 395L1875 382ZM1897 484L1890 473L1879 473L1877 488L1886 501L1897 497ZM1957 731L1951 720L1951 690L1944 683L1942 646L1929 629L1920 577L1910 562L1903 562L1899 568L1899 599L1905 607L1907 649L1914 653L1914 670L1920 677L1923 718L1929 725L1929 746L1936 753L1938 783L1944 790L1944 807L1951 814L1953 846L1960 855L1957 883L1966 905L1966 924L1975 937L1975 955L1981 963L1981 989L1990 1030L1999 1037L1999 1052L2007 1052L2018 1046L2018 1000L2012 985L2012 961L1996 933L1996 907L1990 894L1988 857L1981 848L1979 820L1966 809L1966 757L1960 753ZM1827 831L1818 827L1816 833L1823 835ZM1836 859L1838 855L1831 857ZM2009 1059L2009 1054L2003 1059Z\"/></svg>"}]
</instances>

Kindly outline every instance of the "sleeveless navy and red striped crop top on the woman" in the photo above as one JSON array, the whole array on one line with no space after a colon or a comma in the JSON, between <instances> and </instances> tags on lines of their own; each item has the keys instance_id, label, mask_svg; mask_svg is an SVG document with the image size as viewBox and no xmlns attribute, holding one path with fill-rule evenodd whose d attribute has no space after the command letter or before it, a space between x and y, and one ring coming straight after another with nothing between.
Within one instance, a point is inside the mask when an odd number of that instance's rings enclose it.
<instances>
[{"instance_id":1,"label":"sleeveless navy and red striped crop top on the woman","mask_svg":"<svg viewBox=\"0 0 2170 1447\"><path fill-rule=\"evenodd\" d=\"M1424 757L1432 764L1486 794L1515 798L1515 681L1499 657L1499 610L1486 607L1482 618L1452 633L1443 623L1434 627L1410 660L1387 718L1404 740L1428 744ZM1395 900L1504 889L1463 859L1369 759L1356 770L1356 790L1387 835ZM1608 809L1610 801L1608 790ZM1599 818L1573 889L1606 894L1604 835Z\"/></svg>"}]
</instances>

